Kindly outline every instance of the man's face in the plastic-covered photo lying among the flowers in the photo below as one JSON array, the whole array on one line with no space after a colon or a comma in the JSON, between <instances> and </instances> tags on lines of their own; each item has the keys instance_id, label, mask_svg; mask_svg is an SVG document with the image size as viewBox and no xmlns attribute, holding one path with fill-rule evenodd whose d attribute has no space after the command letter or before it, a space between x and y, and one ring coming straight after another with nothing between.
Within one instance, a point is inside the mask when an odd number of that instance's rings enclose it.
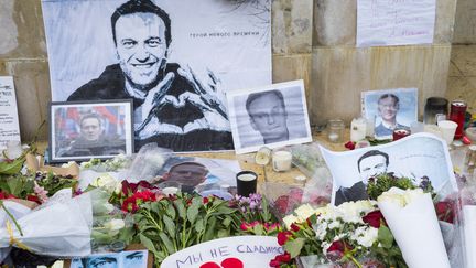
<instances>
[{"instance_id":1,"label":"man's face in the plastic-covered photo lying among the flowers","mask_svg":"<svg viewBox=\"0 0 476 268\"><path fill-rule=\"evenodd\" d=\"M169 181L176 181L183 185L196 186L205 181L208 170L198 164L180 164L169 172Z\"/></svg>"}]
</instances>

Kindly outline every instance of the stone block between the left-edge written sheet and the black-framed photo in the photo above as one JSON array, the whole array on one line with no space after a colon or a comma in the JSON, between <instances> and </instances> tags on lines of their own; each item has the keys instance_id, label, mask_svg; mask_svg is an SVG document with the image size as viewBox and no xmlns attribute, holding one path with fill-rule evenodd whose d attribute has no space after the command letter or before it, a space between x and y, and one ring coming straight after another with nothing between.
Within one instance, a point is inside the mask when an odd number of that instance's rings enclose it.
<instances>
[{"instance_id":1,"label":"stone block between the left-edge written sheet and the black-framed photo","mask_svg":"<svg viewBox=\"0 0 476 268\"><path fill-rule=\"evenodd\" d=\"M13 76L22 141L30 141L43 120L48 120L48 65L46 61L11 61L4 66L0 75ZM37 133L39 140L47 140L47 126L44 125Z\"/></svg>"}]
</instances>

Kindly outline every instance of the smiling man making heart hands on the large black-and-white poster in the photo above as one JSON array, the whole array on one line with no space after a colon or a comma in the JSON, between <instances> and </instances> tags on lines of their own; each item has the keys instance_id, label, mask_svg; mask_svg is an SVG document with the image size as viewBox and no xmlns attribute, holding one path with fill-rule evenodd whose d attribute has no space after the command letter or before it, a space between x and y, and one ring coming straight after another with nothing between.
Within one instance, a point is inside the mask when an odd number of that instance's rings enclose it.
<instances>
[{"instance_id":1,"label":"smiling man making heart hands on the large black-and-white poster","mask_svg":"<svg viewBox=\"0 0 476 268\"><path fill-rule=\"evenodd\" d=\"M220 81L203 83L188 66L167 61L169 14L150 0L130 0L111 15L118 63L67 100L133 99L136 149L156 142L174 151L232 149Z\"/></svg>"}]
</instances>

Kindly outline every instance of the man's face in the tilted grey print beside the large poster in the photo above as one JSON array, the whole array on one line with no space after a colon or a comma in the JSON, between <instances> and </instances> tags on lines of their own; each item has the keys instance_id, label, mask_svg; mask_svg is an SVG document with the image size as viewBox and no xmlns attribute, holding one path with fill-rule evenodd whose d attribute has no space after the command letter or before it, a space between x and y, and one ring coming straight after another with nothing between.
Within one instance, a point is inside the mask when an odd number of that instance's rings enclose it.
<instances>
[{"instance_id":1,"label":"man's face in the tilted grey print beside the large poster","mask_svg":"<svg viewBox=\"0 0 476 268\"><path fill-rule=\"evenodd\" d=\"M267 139L288 139L288 114L275 94L262 95L251 101L248 110L251 126Z\"/></svg>"}]
</instances>

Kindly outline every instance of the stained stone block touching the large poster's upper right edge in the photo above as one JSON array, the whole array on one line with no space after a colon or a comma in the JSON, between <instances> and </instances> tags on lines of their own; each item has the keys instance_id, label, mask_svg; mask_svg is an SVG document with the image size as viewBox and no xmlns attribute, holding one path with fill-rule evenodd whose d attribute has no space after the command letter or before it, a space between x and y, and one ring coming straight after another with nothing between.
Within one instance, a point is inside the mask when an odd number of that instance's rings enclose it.
<instances>
[{"instance_id":1,"label":"stained stone block touching the large poster's upper right edge","mask_svg":"<svg viewBox=\"0 0 476 268\"><path fill-rule=\"evenodd\" d=\"M273 53L311 53L313 0L274 0L271 11Z\"/></svg>"}]
</instances>

